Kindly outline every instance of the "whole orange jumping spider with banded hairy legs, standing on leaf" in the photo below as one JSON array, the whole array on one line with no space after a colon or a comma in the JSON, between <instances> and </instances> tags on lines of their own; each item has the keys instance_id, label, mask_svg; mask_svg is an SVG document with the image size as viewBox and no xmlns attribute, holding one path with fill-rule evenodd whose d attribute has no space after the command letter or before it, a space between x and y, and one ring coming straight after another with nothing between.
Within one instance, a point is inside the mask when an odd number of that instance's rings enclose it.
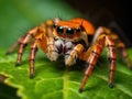
<instances>
[{"instance_id":1,"label":"whole orange jumping spider with banded hairy legs, standing on leaf","mask_svg":"<svg viewBox=\"0 0 132 99\"><path fill-rule=\"evenodd\" d=\"M90 36L92 36L92 40L89 38ZM121 42L119 36L107 28L100 26L95 30L95 26L89 21L81 18L69 21L62 21L56 18L30 30L24 36L20 37L7 53L12 53L14 48L20 45L16 66L20 65L23 51L32 38L34 38L34 41L31 45L29 57L31 78L34 76L34 61L38 47L47 54L47 57L52 62L56 61L59 55L64 55L66 66L76 64L77 58L86 62L88 67L79 87L80 92L82 91L103 47L107 47L108 58L110 61L110 87L113 87L117 61L116 46L120 48L128 67L131 68L125 45Z\"/></svg>"}]
</instances>

